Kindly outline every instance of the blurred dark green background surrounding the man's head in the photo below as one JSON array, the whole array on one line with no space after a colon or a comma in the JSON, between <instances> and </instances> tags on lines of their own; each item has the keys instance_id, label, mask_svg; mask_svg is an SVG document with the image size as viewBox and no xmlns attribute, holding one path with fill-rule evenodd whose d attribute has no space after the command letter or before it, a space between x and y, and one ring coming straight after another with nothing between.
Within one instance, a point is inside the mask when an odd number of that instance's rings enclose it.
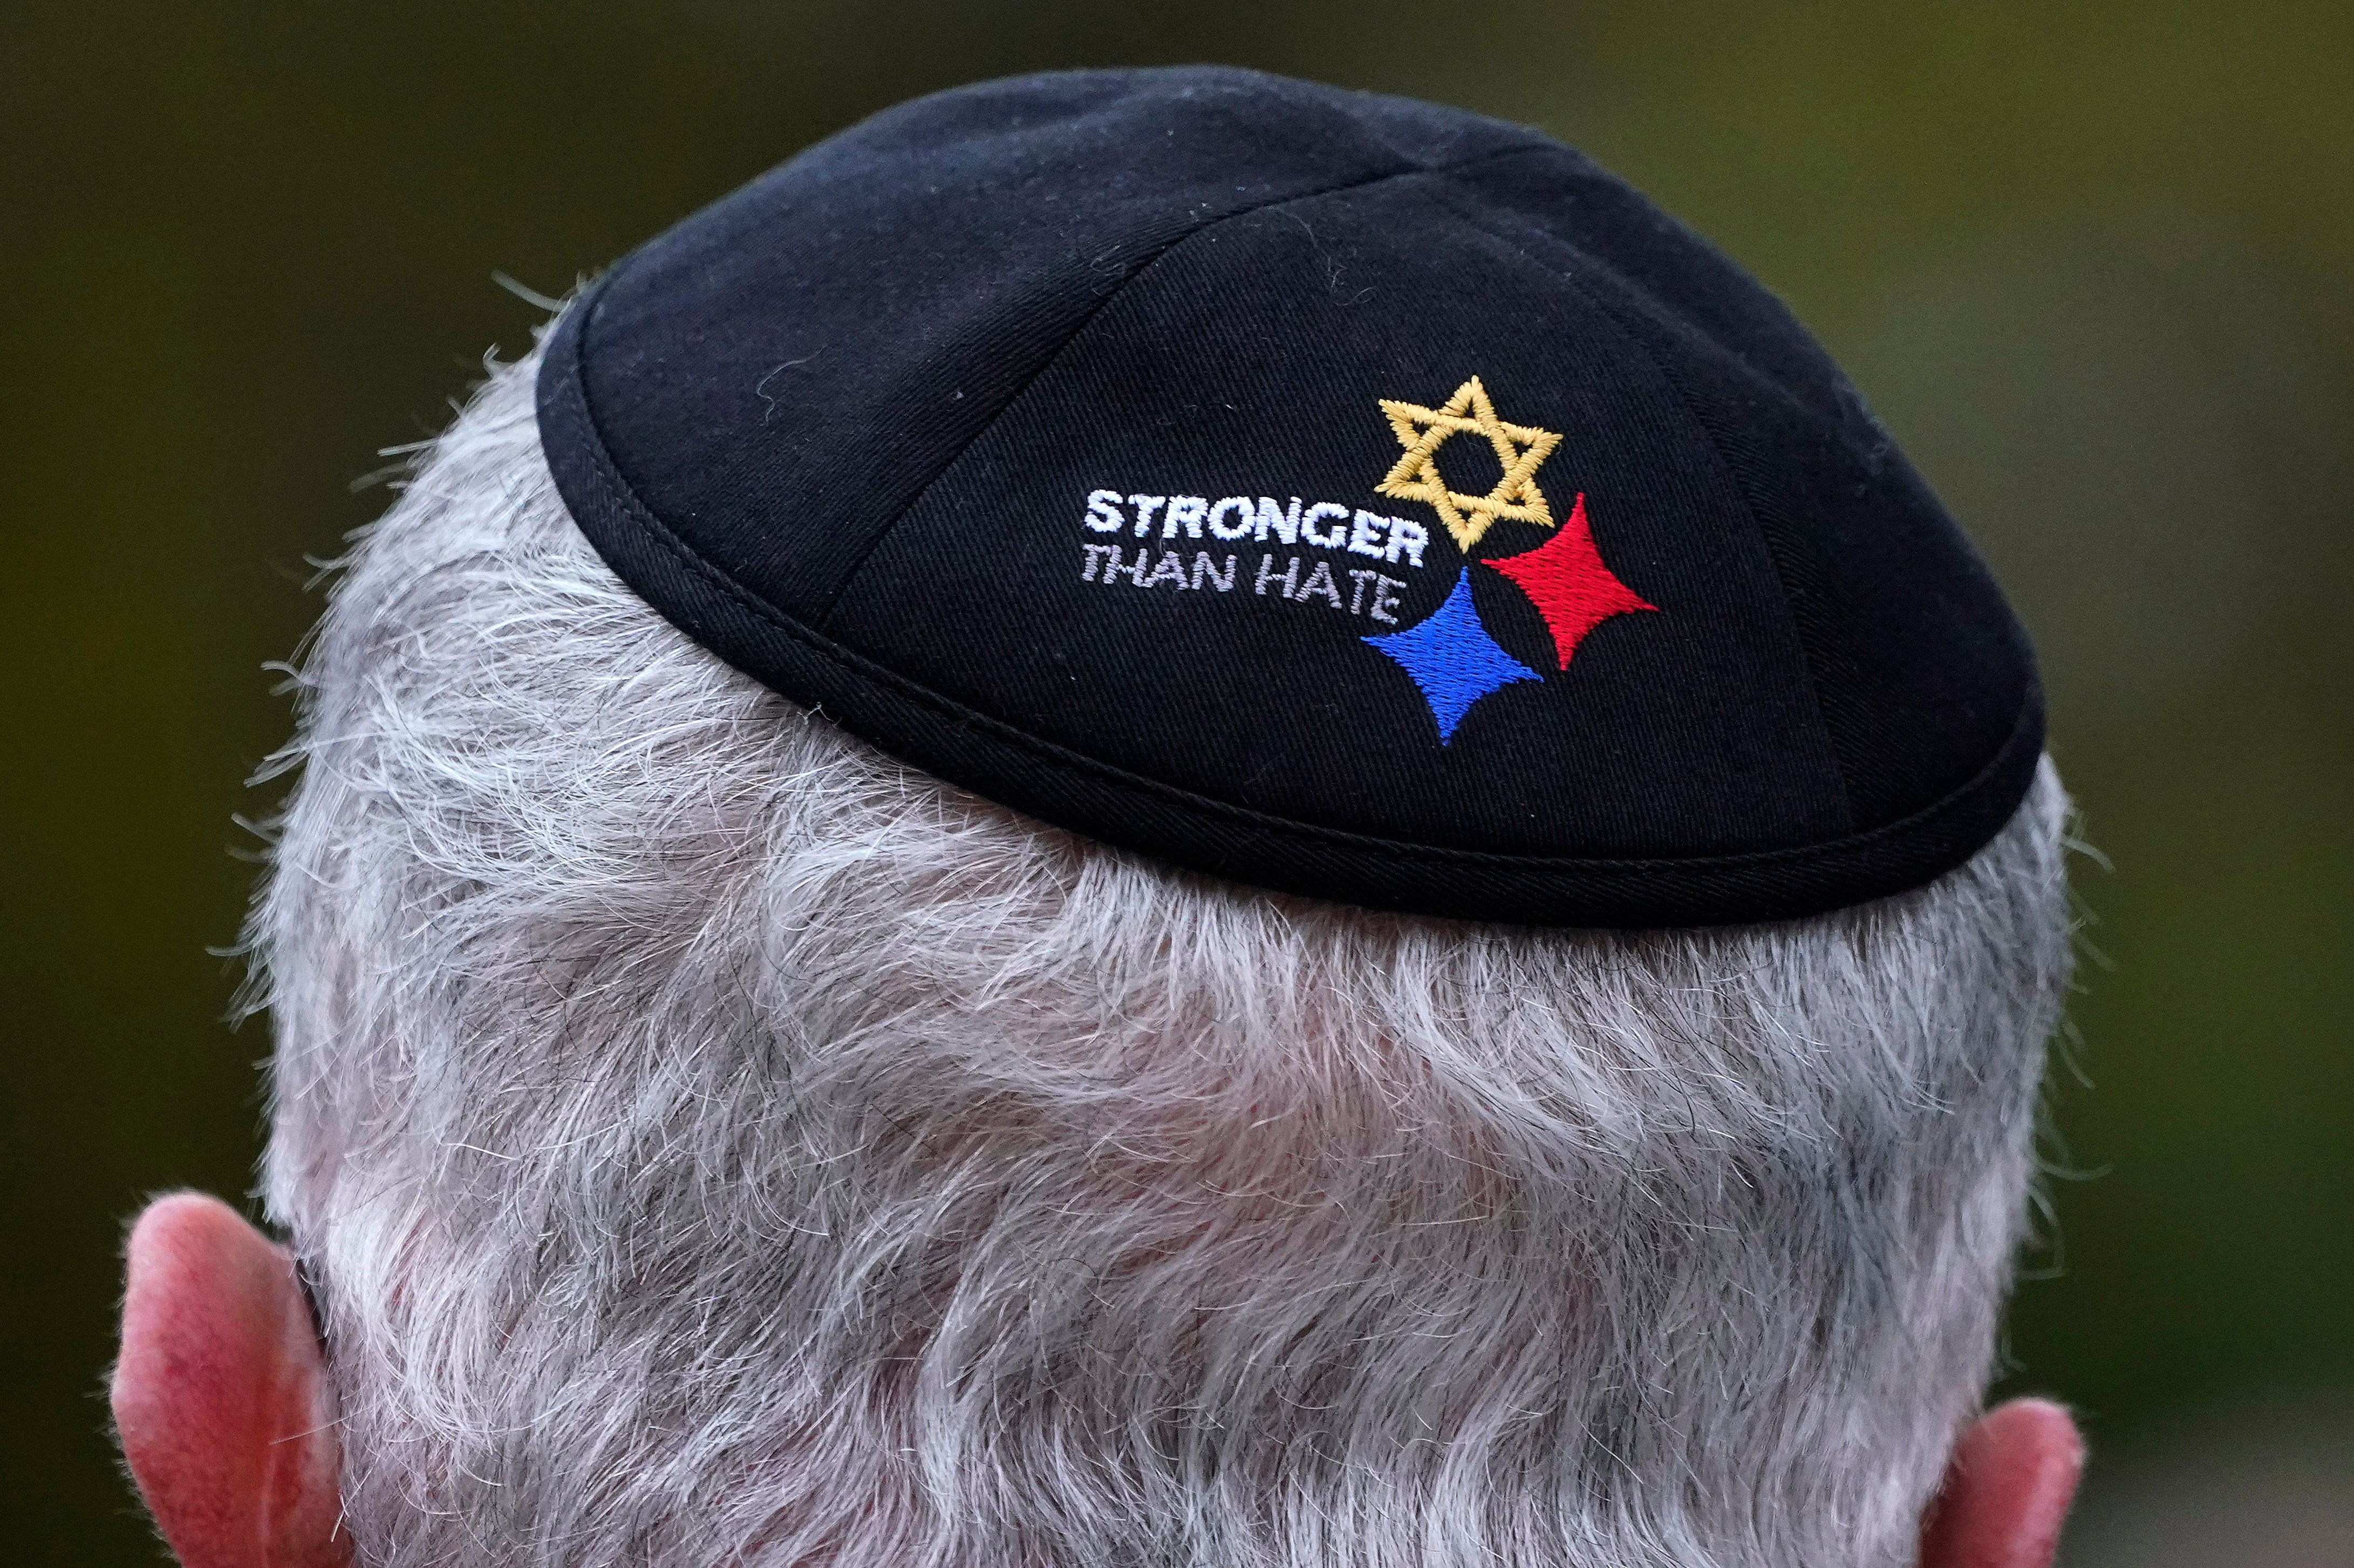
<instances>
[{"instance_id":1,"label":"blurred dark green background surrounding the man's head","mask_svg":"<svg viewBox=\"0 0 2354 1568\"><path fill-rule=\"evenodd\" d=\"M141 1563L144 1194L247 1190L264 661L377 449L895 99L1236 61L1525 120L1810 322L2043 646L2109 867L2010 1387L2069 1561L2354 1563L2354 7L0 5L0 1556Z\"/></svg>"}]
</instances>

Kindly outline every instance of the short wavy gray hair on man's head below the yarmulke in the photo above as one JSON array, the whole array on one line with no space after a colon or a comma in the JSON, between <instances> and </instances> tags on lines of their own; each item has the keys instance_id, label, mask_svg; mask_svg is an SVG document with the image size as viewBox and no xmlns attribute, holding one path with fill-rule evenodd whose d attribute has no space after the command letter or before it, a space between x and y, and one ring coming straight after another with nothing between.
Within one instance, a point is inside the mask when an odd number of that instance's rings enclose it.
<instances>
[{"instance_id":1,"label":"short wavy gray hair on man's head below the yarmulke","mask_svg":"<svg viewBox=\"0 0 2354 1568\"><path fill-rule=\"evenodd\" d=\"M1911 1561L2069 969L2048 762L1806 922L1224 886L687 642L532 369L346 559L250 931L365 1563Z\"/></svg>"}]
</instances>

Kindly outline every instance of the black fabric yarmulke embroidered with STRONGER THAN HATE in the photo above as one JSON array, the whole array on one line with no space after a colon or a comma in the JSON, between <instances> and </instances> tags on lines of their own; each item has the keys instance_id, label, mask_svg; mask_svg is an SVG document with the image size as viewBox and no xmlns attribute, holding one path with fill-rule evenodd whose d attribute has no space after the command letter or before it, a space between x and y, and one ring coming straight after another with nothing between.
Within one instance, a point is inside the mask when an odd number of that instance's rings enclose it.
<instances>
[{"instance_id":1,"label":"black fabric yarmulke embroidered with STRONGER THAN HATE","mask_svg":"<svg viewBox=\"0 0 2354 1568\"><path fill-rule=\"evenodd\" d=\"M621 261L539 423L737 668L1266 889L1813 914L1966 860L2043 745L2001 590L1789 313L1429 103L1210 68L904 103Z\"/></svg>"}]
</instances>

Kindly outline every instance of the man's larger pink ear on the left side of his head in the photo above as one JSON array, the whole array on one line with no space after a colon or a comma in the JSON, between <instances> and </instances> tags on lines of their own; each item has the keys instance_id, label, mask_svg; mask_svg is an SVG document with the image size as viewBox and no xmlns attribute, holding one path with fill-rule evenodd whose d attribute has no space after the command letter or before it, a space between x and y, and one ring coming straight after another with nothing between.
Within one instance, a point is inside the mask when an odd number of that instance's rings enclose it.
<instances>
[{"instance_id":1,"label":"man's larger pink ear on the left side of his head","mask_svg":"<svg viewBox=\"0 0 2354 1568\"><path fill-rule=\"evenodd\" d=\"M186 1568L339 1568L327 1368L294 1262L228 1204L148 1206L125 1251L122 1458Z\"/></svg>"}]
</instances>

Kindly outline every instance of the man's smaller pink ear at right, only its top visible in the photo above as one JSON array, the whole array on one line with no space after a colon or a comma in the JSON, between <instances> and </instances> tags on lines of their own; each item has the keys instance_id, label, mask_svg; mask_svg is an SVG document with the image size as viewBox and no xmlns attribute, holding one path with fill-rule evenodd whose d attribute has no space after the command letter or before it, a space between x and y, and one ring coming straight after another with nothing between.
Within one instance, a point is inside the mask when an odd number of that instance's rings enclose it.
<instances>
[{"instance_id":1,"label":"man's smaller pink ear at right, only its top visible","mask_svg":"<svg viewBox=\"0 0 2354 1568\"><path fill-rule=\"evenodd\" d=\"M1996 1406L1954 1443L1921 1530L1921 1568L2050 1568L2083 1439L2046 1399Z\"/></svg>"}]
</instances>

